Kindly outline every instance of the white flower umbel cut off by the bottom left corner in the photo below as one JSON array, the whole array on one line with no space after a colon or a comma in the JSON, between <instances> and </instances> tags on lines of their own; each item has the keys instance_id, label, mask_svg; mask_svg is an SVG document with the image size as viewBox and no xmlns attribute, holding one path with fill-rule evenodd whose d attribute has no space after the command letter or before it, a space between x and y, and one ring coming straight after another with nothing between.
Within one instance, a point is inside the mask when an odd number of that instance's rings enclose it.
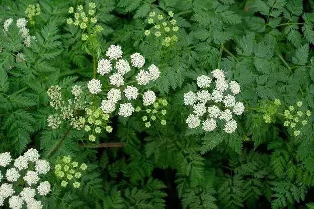
<instances>
[{"instance_id":1,"label":"white flower umbel cut off by the bottom left corner","mask_svg":"<svg viewBox=\"0 0 314 209\"><path fill-rule=\"evenodd\" d=\"M48 181L40 182L40 176L50 170L50 164L39 157L33 148L14 161L9 152L0 153L0 168L3 168L3 173L0 172L0 206L9 198L9 208L20 209L24 204L32 209L43 207L35 197L36 194L46 196L51 190Z\"/></svg>"}]
</instances>

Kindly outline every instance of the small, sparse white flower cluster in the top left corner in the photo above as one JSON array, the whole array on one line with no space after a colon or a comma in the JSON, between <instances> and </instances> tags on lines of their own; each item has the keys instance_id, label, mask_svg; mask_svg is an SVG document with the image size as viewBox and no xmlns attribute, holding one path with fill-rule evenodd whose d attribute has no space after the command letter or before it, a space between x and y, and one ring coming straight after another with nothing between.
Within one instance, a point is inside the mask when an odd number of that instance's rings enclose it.
<instances>
[{"instance_id":1,"label":"small, sparse white flower cluster in the top left corner","mask_svg":"<svg viewBox=\"0 0 314 209\"><path fill-rule=\"evenodd\" d=\"M29 30L26 28L27 22L28 21L25 18L19 18L16 20L16 26L20 29L19 34L24 39L24 41L23 41L24 45L26 47L30 47L30 41L31 41L31 39L35 40L35 37L29 35ZM3 30L5 33L9 31L9 27L12 23L13 23L12 18L9 18L4 22L4 24L3 24L4 29Z\"/></svg>"}]
</instances>

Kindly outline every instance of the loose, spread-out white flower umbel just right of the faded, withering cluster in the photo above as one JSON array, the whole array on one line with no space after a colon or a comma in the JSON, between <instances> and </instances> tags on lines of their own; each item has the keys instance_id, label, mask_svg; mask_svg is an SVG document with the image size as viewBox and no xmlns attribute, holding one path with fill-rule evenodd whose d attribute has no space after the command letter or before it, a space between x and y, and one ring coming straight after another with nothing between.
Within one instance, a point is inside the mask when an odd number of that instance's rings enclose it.
<instances>
[{"instance_id":1,"label":"loose, spread-out white flower umbel just right of the faded, withering cluster","mask_svg":"<svg viewBox=\"0 0 314 209\"><path fill-rule=\"evenodd\" d=\"M109 83L112 87L107 92L107 98L101 102L101 109L104 113L113 113L118 106L118 102L123 100L118 108L118 114L122 117L130 117L135 111L132 100L136 100L139 96L138 88L130 85L137 83L138 85L146 85L150 81L155 81L159 78L160 71L154 64L147 69L143 69L145 65L145 58L139 54L134 53L130 56L131 62L122 58L123 52L121 46L111 45L107 52L107 58L102 58L98 61L97 72L101 76L108 76ZM126 82L125 77L131 71L131 67L140 69L135 76L136 80ZM92 79L88 82L87 88L91 94L98 94L102 91L102 84L99 79ZM143 93L143 105L152 105L156 101L156 94L147 90Z\"/></svg>"}]
</instances>

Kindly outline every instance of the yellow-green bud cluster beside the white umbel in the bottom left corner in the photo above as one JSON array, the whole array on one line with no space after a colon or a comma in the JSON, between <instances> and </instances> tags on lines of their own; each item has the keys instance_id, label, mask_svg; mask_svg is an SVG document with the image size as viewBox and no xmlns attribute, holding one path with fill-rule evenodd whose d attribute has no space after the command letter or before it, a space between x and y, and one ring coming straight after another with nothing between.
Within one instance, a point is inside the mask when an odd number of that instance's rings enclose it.
<instances>
[{"instance_id":1,"label":"yellow-green bud cluster beside the white umbel in the bottom left corner","mask_svg":"<svg viewBox=\"0 0 314 209\"><path fill-rule=\"evenodd\" d=\"M54 173L60 179L62 187L69 184L74 188L79 188L81 186L80 179L86 169L87 165L85 163L79 164L73 161L71 156L66 155L57 157Z\"/></svg>"}]
</instances>

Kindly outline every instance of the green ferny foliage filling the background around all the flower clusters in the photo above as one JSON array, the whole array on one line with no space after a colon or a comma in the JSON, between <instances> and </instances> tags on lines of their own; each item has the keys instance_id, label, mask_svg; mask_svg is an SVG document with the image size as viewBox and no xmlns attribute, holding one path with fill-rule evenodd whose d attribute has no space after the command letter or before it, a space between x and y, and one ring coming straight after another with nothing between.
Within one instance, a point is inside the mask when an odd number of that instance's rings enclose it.
<instances>
[{"instance_id":1,"label":"green ferny foliage filling the background around all the flower clusters","mask_svg":"<svg viewBox=\"0 0 314 209\"><path fill-rule=\"evenodd\" d=\"M162 72L154 86L168 99L165 127L146 129L141 118L113 121L102 142L123 148L79 146L82 133L51 130L46 90L86 86L92 56L81 31L66 24L68 8L83 1L0 1L0 22L26 17L28 4L41 6L36 37L23 47L18 29L0 33L0 151L18 156L40 150L54 162L70 154L88 164L79 189L61 189L54 177L44 208L314 208L313 117L299 137L277 119L264 122L263 101L297 101L314 108L314 2L300 0L107 0L97 4L100 57L111 44L140 52ZM163 47L145 38L148 13L174 11L178 42ZM17 52L25 62L16 62ZM241 85L246 111L237 133L186 131L189 110L183 94L195 79L221 68ZM68 132L68 133L67 133ZM67 134L65 134L67 133ZM60 148L51 154L62 140Z\"/></svg>"}]
</instances>

